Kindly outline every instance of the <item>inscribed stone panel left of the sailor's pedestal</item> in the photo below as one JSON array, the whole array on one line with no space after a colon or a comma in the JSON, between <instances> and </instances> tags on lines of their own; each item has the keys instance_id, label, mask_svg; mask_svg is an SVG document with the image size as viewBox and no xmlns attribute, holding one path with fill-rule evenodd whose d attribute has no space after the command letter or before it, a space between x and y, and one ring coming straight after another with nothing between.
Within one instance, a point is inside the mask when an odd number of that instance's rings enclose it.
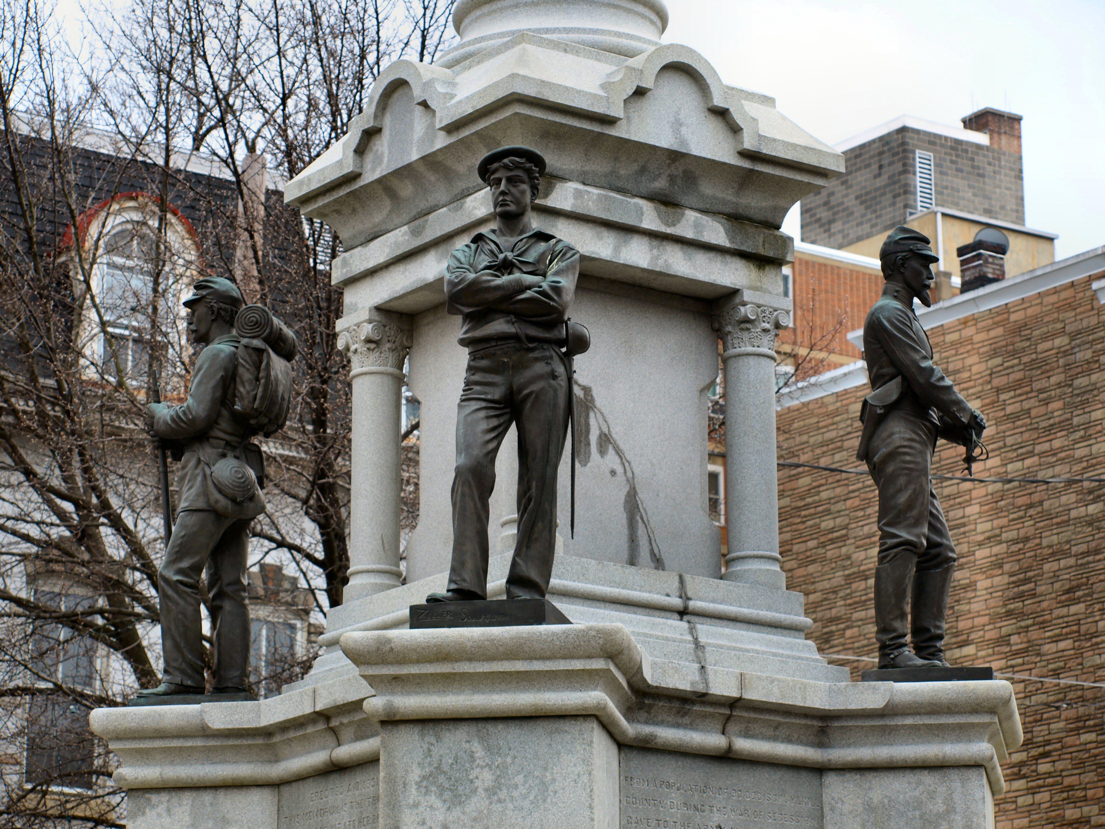
<instances>
[{"instance_id":1,"label":"inscribed stone panel left of the sailor's pedestal","mask_svg":"<svg viewBox=\"0 0 1105 829\"><path fill-rule=\"evenodd\" d=\"M277 829L379 829L380 764L282 784Z\"/></svg>"}]
</instances>

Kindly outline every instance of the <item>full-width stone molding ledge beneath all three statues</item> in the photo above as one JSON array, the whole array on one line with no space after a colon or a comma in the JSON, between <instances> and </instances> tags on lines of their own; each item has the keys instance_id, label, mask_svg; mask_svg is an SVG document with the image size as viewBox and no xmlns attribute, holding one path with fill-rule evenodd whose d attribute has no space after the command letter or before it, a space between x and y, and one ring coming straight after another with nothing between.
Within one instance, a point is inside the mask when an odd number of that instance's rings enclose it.
<instances>
[{"instance_id":1,"label":"full-width stone molding ledge beneath all three statues","mask_svg":"<svg viewBox=\"0 0 1105 829\"><path fill-rule=\"evenodd\" d=\"M377 759L380 721L589 715L623 745L671 752L812 768L981 766L1001 794L999 764L1023 738L1004 681L728 671L650 658L622 625L347 633L341 648L361 676L260 702L94 711L93 731L123 760L115 781L275 785Z\"/></svg>"}]
</instances>

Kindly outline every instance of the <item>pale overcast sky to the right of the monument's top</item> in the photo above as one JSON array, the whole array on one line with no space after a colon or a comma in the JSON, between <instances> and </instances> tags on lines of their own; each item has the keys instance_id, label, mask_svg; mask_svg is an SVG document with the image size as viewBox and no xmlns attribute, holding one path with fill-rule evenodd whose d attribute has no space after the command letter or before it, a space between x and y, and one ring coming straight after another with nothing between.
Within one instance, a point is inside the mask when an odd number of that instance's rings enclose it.
<instances>
[{"instance_id":1,"label":"pale overcast sky to the right of the monument's top","mask_svg":"<svg viewBox=\"0 0 1105 829\"><path fill-rule=\"evenodd\" d=\"M828 144L899 115L1023 115L1025 223L1059 259L1105 244L1105 0L665 2L665 42Z\"/></svg>"}]
</instances>

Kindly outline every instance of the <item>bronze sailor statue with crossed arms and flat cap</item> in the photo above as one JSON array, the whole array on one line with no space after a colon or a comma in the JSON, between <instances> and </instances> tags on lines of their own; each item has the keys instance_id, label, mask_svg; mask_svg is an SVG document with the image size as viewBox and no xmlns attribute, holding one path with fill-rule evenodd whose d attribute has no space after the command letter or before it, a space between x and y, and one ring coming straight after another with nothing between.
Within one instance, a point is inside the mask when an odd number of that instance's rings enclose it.
<instances>
[{"instance_id":1,"label":"bronze sailor statue with crossed arms and flat cap","mask_svg":"<svg viewBox=\"0 0 1105 829\"><path fill-rule=\"evenodd\" d=\"M507 598L545 597L556 546L557 468L575 342L566 328L579 251L533 224L530 207L545 172L539 153L502 147L476 171L491 191L495 229L453 251L445 267L446 308L462 317L457 342L469 349L469 365L456 411L449 588L428 596L430 602L487 596L495 457L512 423L518 432L518 534Z\"/></svg>"}]
</instances>

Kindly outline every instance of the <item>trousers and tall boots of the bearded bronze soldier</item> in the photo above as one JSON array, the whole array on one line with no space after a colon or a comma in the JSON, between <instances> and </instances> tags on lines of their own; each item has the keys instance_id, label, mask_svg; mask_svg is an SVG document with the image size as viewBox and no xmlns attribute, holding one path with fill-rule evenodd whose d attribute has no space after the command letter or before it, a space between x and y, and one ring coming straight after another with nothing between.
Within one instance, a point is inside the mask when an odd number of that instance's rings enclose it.
<instances>
[{"instance_id":1,"label":"trousers and tall boots of the bearded bronze soldier","mask_svg":"<svg viewBox=\"0 0 1105 829\"><path fill-rule=\"evenodd\" d=\"M930 476L936 431L918 414L894 409L871 439L867 469L878 487L875 638L884 659L907 647L911 600L914 651L933 659L944 653L956 549Z\"/></svg>"}]
</instances>

